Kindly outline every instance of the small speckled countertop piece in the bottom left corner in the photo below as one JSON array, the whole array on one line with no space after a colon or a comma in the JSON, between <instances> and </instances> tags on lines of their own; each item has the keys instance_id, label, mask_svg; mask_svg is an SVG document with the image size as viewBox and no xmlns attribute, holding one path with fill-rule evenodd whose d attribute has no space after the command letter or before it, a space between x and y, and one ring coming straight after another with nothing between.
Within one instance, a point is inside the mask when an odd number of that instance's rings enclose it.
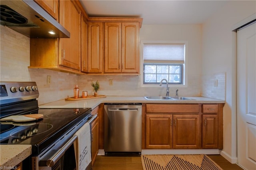
<instances>
[{"instance_id":1,"label":"small speckled countertop piece in the bottom left corner","mask_svg":"<svg viewBox=\"0 0 256 170\"><path fill-rule=\"evenodd\" d=\"M32 153L31 145L1 144L0 145L0 169L10 169Z\"/></svg>"}]
</instances>

